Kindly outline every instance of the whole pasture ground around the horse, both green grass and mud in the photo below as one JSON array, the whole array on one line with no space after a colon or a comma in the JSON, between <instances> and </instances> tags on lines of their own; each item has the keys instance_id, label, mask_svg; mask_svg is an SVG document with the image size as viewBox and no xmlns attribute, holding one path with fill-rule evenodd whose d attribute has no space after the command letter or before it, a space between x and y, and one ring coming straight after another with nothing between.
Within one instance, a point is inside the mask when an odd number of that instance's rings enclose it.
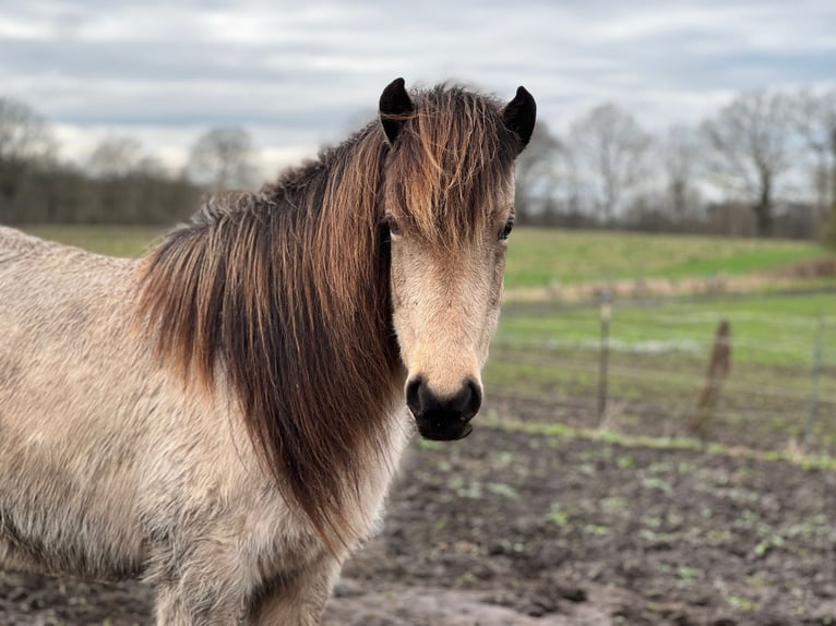
<instances>
[{"instance_id":1,"label":"whole pasture ground around the horse, both green grass and mud","mask_svg":"<svg viewBox=\"0 0 836 626\"><path fill-rule=\"evenodd\" d=\"M158 233L27 230L129 256ZM506 288L769 274L826 254L518 229ZM413 442L382 533L346 565L325 623L834 623L834 312L826 290L617 301L601 416L598 309L509 302L474 433ZM684 421L720 318L731 372L700 441ZM144 624L150 611L135 583L0 574L0 623Z\"/></svg>"}]
</instances>

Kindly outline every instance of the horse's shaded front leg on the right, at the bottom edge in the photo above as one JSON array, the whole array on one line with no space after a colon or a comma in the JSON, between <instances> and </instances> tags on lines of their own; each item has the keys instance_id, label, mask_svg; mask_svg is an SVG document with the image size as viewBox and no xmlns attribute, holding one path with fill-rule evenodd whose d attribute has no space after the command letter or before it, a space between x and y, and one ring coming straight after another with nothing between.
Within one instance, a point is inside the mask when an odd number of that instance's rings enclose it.
<instances>
[{"instance_id":1,"label":"horse's shaded front leg on the right, at the bottom edge","mask_svg":"<svg viewBox=\"0 0 836 626\"><path fill-rule=\"evenodd\" d=\"M265 591L252 606L251 626L314 626L339 575L341 563L330 555L307 565L290 579Z\"/></svg>"}]
</instances>

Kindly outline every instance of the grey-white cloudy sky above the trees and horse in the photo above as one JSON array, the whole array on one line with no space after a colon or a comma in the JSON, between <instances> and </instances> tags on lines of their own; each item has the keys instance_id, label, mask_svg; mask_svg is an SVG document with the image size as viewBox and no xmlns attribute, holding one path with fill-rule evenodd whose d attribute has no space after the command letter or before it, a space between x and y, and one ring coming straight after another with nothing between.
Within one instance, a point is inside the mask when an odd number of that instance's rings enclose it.
<instances>
[{"instance_id":1,"label":"grey-white cloudy sky above the trees and horse","mask_svg":"<svg viewBox=\"0 0 836 626\"><path fill-rule=\"evenodd\" d=\"M273 169L371 119L397 76L525 85L557 130L604 100L658 129L741 89L833 84L834 33L834 0L0 0L0 96L51 120L67 158L130 135L177 166L241 125Z\"/></svg>"}]
</instances>

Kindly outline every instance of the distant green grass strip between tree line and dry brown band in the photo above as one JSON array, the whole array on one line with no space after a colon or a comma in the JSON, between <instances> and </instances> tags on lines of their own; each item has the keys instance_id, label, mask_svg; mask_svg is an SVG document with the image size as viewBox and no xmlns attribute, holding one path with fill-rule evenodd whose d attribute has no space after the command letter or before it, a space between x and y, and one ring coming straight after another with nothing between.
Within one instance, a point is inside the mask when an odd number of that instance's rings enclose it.
<instances>
[{"instance_id":1,"label":"distant green grass strip between tree line and dry brown band","mask_svg":"<svg viewBox=\"0 0 836 626\"><path fill-rule=\"evenodd\" d=\"M810 242L518 228L509 242L505 287L741 276L828 254Z\"/></svg>"}]
</instances>

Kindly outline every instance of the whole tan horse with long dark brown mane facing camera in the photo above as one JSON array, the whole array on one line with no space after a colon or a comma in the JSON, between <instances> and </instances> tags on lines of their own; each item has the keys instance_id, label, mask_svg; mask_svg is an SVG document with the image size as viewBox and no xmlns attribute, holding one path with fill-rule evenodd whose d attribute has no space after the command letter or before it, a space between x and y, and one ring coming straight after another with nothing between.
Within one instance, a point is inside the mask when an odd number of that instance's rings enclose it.
<instances>
[{"instance_id":1,"label":"whole tan horse with long dark brown mane facing camera","mask_svg":"<svg viewBox=\"0 0 836 626\"><path fill-rule=\"evenodd\" d=\"M315 624L418 431L471 431L536 105L442 84L136 260L0 229L0 568Z\"/></svg>"}]
</instances>

